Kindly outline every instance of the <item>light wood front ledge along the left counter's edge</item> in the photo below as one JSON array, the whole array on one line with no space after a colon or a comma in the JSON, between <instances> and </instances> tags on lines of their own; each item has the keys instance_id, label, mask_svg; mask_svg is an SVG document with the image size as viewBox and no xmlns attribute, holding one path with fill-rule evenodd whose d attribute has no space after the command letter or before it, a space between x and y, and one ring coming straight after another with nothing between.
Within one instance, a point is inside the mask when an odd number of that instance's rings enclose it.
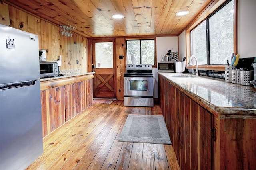
<instances>
[{"instance_id":1,"label":"light wood front ledge along the left counter's edge","mask_svg":"<svg viewBox=\"0 0 256 170\"><path fill-rule=\"evenodd\" d=\"M40 79L40 89L42 91L50 88L55 88L55 87L76 83L76 82L81 82L84 80L89 80L93 78L93 74L94 72L89 72L86 74L75 74L75 75L69 75L69 76L42 78Z\"/></svg>"}]
</instances>

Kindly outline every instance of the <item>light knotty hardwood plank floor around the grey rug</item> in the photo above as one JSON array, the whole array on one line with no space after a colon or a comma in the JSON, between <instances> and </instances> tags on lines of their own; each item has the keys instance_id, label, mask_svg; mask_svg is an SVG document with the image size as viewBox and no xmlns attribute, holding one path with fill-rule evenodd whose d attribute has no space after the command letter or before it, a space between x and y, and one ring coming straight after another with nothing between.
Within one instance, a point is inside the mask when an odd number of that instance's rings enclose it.
<instances>
[{"instance_id":1,"label":"light knotty hardwood plank floor around the grey rug","mask_svg":"<svg viewBox=\"0 0 256 170\"><path fill-rule=\"evenodd\" d=\"M44 153L28 170L176 170L172 145L118 142L129 113L159 115L154 107L126 107L123 100L93 103L43 139Z\"/></svg>"}]
</instances>

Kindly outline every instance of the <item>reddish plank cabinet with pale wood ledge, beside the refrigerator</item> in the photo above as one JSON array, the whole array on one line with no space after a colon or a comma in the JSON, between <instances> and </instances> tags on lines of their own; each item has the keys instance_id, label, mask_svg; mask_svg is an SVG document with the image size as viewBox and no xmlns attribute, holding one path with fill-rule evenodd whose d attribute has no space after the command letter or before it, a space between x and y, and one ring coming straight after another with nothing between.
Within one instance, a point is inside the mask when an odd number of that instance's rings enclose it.
<instances>
[{"instance_id":1,"label":"reddish plank cabinet with pale wood ledge, beside the refrigerator","mask_svg":"<svg viewBox=\"0 0 256 170\"><path fill-rule=\"evenodd\" d=\"M41 82L43 137L92 105L92 74Z\"/></svg>"}]
</instances>

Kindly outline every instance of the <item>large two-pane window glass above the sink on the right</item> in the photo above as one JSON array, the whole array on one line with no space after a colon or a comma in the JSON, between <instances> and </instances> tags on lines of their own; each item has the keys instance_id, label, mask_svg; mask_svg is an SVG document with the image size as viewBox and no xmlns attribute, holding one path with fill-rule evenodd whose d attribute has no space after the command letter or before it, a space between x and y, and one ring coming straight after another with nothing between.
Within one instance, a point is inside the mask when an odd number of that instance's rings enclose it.
<instances>
[{"instance_id":1,"label":"large two-pane window glass above the sink on the right","mask_svg":"<svg viewBox=\"0 0 256 170\"><path fill-rule=\"evenodd\" d=\"M234 0L227 1L190 32L191 55L200 65L225 64L234 52Z\"/></svg>"}]
</instances>

